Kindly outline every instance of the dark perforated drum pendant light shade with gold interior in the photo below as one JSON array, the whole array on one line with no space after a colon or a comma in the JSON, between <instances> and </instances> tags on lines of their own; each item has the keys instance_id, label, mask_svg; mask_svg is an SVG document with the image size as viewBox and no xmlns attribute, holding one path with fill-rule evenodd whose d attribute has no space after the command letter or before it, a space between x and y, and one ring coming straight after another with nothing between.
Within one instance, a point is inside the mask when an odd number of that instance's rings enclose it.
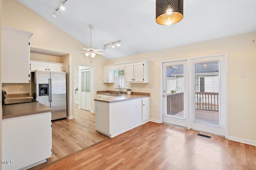
<instances>
[{"instance_id":1,"label":"dark perforated drum pendant light shade with gold interior","mask_svg":"<svg viewBox=\"0 0 256 170\"><path fill-rule=\"evenodd\" d=\"M156 0L156 22L171 25L183 18L183 0Z\"/></svg>"}]
</instances>

